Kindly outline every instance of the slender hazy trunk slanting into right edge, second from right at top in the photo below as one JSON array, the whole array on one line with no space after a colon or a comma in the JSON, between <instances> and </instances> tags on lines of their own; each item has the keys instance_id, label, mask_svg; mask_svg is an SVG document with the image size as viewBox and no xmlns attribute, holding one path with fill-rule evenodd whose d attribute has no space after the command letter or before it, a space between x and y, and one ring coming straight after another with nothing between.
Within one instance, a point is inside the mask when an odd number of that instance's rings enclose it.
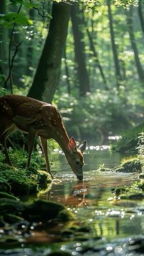
<instances>
[{"instance_id":1,"label":"slender hazy trunk slanting into right edge, second from right at top","mask_svg":"<svg viewBox=\"0 0 144 256\"><path fill-rule=\"evenodd\" d=\"M133 27L133 8L132 6L129 8L129 10L126 10L127 15L127 23L128 23L128 31L129 31L129 38L131 40L131 46L134 51L134 58L135 58L135 64L137 67L137 73L139 75L139 79L141 82L144 81L144 73L143 68L140 63L139 53L137 49L137 44L135 43L135 35L134 35L134 27Z\"/></svg>"}]
</instances>

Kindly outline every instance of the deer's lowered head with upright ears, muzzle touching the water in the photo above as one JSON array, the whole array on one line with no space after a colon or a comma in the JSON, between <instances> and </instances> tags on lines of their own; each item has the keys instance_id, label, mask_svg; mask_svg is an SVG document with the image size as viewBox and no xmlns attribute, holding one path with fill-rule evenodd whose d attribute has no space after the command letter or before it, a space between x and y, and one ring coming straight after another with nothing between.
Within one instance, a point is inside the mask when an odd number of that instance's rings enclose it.
<instances>
[{"instance_id":1,"label":"deer's lowered head with upright ears, muzzle touching the water","mask_svg":"<svg viewBox=\"0 0 144 256\"><path fill-rule=\"evenodd\" d=\"M74 174L76 175L78 180L83 180L83 171L82 167L84 166L84 158L83 152L87 147L87 141L83 141L81 145L77 148L76 141L73 137L71 137L68 147L70 149L70 158L68 159L68 163L71 166Z\"/></svg>"}]
</instances>

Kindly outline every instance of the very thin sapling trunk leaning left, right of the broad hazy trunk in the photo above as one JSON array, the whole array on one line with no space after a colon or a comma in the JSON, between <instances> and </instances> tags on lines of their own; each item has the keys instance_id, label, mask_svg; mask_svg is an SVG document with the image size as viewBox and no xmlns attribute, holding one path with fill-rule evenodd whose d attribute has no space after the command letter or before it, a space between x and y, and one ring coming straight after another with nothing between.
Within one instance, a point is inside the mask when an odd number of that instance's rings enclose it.
<instances>
[{"instance_id":1,"label":"very thin sapling trunk leaning left, right of the broad hazy trunk","mask_svg":"<svg viewBox=\"0 0 144 256\"><path fill-rule=\"evenodd\" d=\"M98 59L98 53L95 49L95 46L93 45L93 40L92 40L92 37L91 37L90 32L88 31L88 29L87 29L87 34L88 34L88 38L90 40L90 49L93 51L93 55L95 56L95 61L96 61L96 64L98 65L99 71L101 73L101 77L102 77L103 82L104 82L104 87L105 87L106 90L109 90L109 88L107 87L107 81L106 81L106 77L105 77L104 72L103 72L103 68L101 67L101 64L100 64L99 59Z\"/></svg>"}]
</instances>

